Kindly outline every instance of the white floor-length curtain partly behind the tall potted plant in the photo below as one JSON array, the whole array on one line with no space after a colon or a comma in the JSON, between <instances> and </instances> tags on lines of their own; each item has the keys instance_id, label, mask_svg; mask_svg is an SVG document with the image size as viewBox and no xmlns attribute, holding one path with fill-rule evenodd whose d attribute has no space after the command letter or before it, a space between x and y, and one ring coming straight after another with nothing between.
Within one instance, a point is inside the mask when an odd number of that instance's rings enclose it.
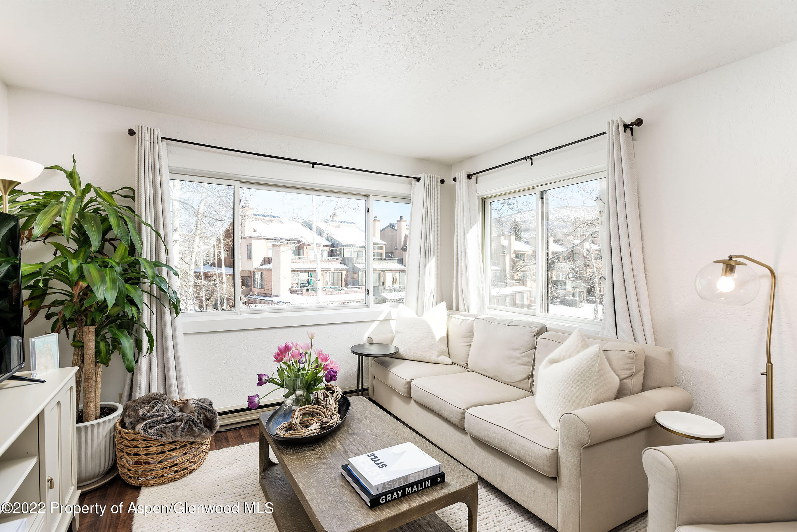
<instances>
[{"instance_id":1,"label":"white floor-length curtain partly behind the tall potted plant","mask_svg":"<svg viewBox=\"0 0 797 532\"><path fill-rule=\"evenodd\" d=\"M135 212L163 235L171 237L171 208L169 205L169 165L166 144L160 140L160 130L139 125L135 132ZM167 248L149 227L139 227L144 258L171 264ZM159 269L169 286L177 280L165 268ZM194 391L188 382L185 353L183 353L183 327L175 321L174 311L164 308L155 298L144 294L144 301L152 313L144 312L143 321L155 339L152 353L139 356L135 371L128 375L124 400L136 399L149 392L163 392L171 399L189 399ZM143 340L146 353L147 339Z\"/></svg>"}]
</instances>

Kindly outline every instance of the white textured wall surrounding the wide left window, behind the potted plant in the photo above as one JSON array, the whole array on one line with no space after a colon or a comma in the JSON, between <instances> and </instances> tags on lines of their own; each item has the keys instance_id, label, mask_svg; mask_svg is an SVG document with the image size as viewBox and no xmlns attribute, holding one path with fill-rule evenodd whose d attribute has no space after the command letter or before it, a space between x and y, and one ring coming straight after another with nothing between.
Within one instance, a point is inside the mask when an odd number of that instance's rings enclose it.
<instances>
[{"instance_id":1,"label":"white textured wall surrounding the wide left window, behind the potted plant","mask_svg":"<svg viewBox=\"0 0 797 532\"><path fill-rule=\"evenodd\" d=\"M8 109L9 155L36 160L45 166L60 164L67 167L74 153L84 183L92 182L108 190L134 184L135 138L128 136L127 130L135 128L136 124L144 124L160 128L164 136L204 144L404 175L442 175L446 177L442 193L442 216L444 219L453 219L453 184L448 179L450 167L443 164L14 87L8 91ZM184 145L170 145L169 164L171 167L198 171L251 175L258 179L291 179L322 186L324 183L333 183L382 195L390 192L408 194L410 191L409 179L371 177L320 168L312 170L303 165L186 148ZM41 191L65 187L67 183L60 172L45 170L39 178L23 188ZM444 224L444 231L449 231L449 228L450 224ZM451 256L453 230L444 233L444 241L448 246L448 249L444 246L443 250L445 260ZM24 260L28 262L44 258L39 249L28 248L25 254ZM445 270L445 263L443 267ZM450 301L450 287L445 295ZM383 332L390 329L387 321L357 321L313 327L318 331L320 345L341 362L342 386L355 385L356 359L349 352L349 347L362 341L365 334L376 327ZM247 395L262 392L255 385L256 374L272 371L272 355L277 345L288 340L301 340L304 330L310 328L303 326L186 334L185 345L186 352L190 353L189 372L194 392L198 396L210 397L219 408L245 404ZM27 337L45 332L49 332L49 323L41 317L26 328ZM72 349L62 336L61 365L69 365L71 358ZM103 373L103 400L118 399L118 393L124 388L124 377L124 366L119 357L114 357L110 367Z\"/></svg>"}]
</instances>

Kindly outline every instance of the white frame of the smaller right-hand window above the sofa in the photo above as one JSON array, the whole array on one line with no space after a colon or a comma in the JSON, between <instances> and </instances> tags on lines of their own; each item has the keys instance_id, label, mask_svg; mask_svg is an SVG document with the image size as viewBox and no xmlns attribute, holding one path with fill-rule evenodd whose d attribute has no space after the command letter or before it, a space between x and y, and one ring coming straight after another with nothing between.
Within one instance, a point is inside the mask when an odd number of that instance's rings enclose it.
<instances>
[{"instance_id":1,"label":"white frame of the smaller right-hand window above the sofa","mask_svg":"<svg viewBox=\"0 0 797 532\"><path fill-rule=\"evenodd\" d=\"M542 194L542 192L551 190L553 188L567 187L568 185L572 184L586 183L587 181L594 181L595 179L605 179L605 178L606 178L605 167L601 167L600 169L593 167L589 169L584 169L583 171L569 172L566 175L556 175L548 179L540 179L537 183L533 184L532 186L528 186L528 184L526 184L525 186L522 187L503 190L501 191L500 194L488 192L479 195L479 198L481 199L479 203L481 209L481 227L482 227L481 254L482 254L482 265L484 269L483 277L484 277L484 286L485 286L486 309L493 310L494 312L497 313L523 314L525 316L536 317L541 321L554 321L566 325L584 326L593 329L595 327L599 327L603 323L602 319L594 320L592 318L574 317L563 314L548 313L547 300L545 300L545 303L543 302L543 298L547 293L547 287L548 287L548 275L547 275L548 265L546 264L548 258L548 238L545 238L545 235L548 234L548 223L547 223L548 205L544 199L544 195ZM490 266L492 260L490 258L490 238L492 236L492 227L490 225L491 210L489 207L489 203L496 200L515 198L520 195L530 195L530 194L536 196L536 213L535 213L536 291L534 292L534 298L535 298L534 308L520 309L520 308L501 306L501 305L491 305L490 278L492 270L490 270ZM601 244L603 245L603 242L601 242ZM605 312L606 310L604 309L604 313Z\"/></svg>"}]
</instances>

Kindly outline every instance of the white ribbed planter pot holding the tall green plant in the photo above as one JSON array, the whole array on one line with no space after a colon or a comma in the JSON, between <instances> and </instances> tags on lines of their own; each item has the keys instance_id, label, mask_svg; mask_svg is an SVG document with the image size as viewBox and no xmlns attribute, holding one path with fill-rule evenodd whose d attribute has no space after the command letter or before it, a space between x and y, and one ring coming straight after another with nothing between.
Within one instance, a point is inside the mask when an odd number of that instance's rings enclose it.
<instances>
[{"instance_id":1,"label":"white ribbed planter pot holding the tall green plant","mask_svg":"<svg viewBox=\"0 0 797 532\"><path fill-rule=\"evenodd\" d=\"M77 429L77 486L102 478L116 460L113 445L113 426L122 416L119 403L100 403L100 407L113 407L116 412L99 420L79 423Z\"/></svg>"}]
</instances>

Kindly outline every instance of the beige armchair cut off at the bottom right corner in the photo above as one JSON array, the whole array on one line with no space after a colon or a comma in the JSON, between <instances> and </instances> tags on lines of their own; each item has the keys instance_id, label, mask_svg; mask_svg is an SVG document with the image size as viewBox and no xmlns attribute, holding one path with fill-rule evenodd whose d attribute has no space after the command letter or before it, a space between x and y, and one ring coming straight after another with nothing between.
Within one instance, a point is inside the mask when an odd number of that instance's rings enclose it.
<instances>
[{"instance_id":1,"label":"beige armchair cut off at the bottom right corner","mask_svg":"<svg viewBox=\"0 0 797 532\"><path fill-rule=\"evenodd\" d=\"M648 532L795 532L797 438L652 447Z\"/></svg>"}]
</instances>

